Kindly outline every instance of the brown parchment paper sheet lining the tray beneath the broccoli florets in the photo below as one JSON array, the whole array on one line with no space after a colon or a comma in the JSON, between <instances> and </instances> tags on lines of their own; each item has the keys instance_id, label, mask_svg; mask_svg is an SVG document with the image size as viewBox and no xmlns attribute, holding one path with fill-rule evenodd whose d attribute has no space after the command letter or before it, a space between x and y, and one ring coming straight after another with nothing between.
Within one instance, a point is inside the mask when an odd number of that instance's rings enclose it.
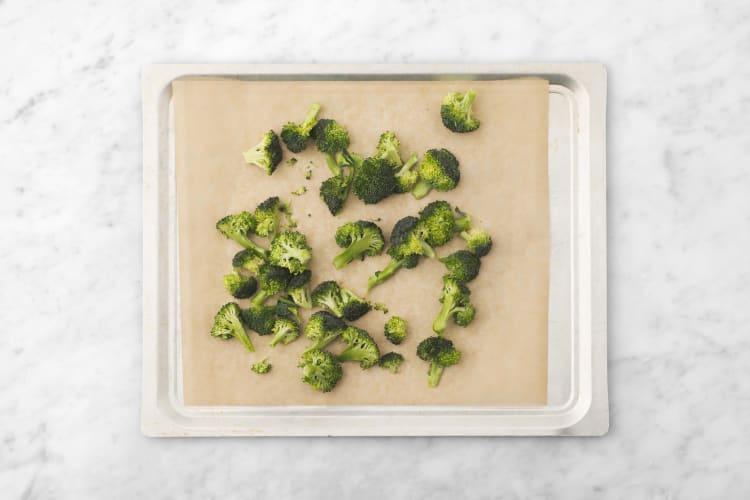
<instances>
[{"instance_id":1,"label":"brown parchment paper sheet lining the tray beneath the broccoli florets","mask_svg":"<svg viewBox=\"0 0 750 500\"><path fill-rule=\"evenodd\" d=\"M439 118L441 98L451 90L478 91L475 114L482 123L469 134L454 134ZM547 186L548 83L540 79L481 82L240 82L181 80L173 84L178 223L180 242L181 341L184 400L187 405L533 405L546 402L549 207ZM301 154L284 150L273 176L246 166L242 151L261 134L289 120L301 120L308 106L322 104L321 117L339 120L350 131L351 150L374 151L378 137L393 130L402 156L445 147L460 161L461 182L448 193L433 191L421 201L395 195L366 206L353 194L344 211L332 217L318 198L318 186L330 176L314 146ZM305 168L313 166L312 179ZM291 191L307 186L303 196ZM440 308L442 264L429 259L402 270L375 288L369 299L384 302L390 314L409 321L400 346L382 333L389 316L372 311L356 322L367 329L382 352L402 353L401 373L346 363L344 377L328 394L300 381L296 367L307 344L275 349L269 337L254 332L257 352L236 340L209 335L218 308L232 298L221 282L239 247L215 230L227 213L252 210L270 195L291 200L299 230L313 248L314 284L325 279L363 293L367 277L388 262L387 255L356 261L337 271L331 260L340 251L333 241L345 221L379 219L386 236L393 224L430 201L445 199L473 216L489 231L493 251L482 259L472 283L477 317L468 328L450 324L446 336L463 352L460 365L448 368L440 386L427 387L427 363L416 346L432 334ZM462 240L438 250L440 256L462 247ZM246 307L247 301L238 301ZM309 313L305 313L305 317ZM332 351L343 345L334 344ZM269 357L273 370L250 371L252 362Z\"/></svg>"}]
</instances>

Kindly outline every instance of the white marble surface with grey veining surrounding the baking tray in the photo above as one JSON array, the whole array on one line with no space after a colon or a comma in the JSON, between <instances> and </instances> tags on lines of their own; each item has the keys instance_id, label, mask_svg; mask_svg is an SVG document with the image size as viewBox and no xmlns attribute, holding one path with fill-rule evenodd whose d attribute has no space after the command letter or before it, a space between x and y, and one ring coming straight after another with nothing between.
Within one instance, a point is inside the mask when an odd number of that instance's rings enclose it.
<instances>
[{"instance_id":1,"label":"white marble surface with grey veining surrounding the baking tray","mask_svg":"<svg viewBox=\"0 0 750 500\"><path fill-rule=\"evenodd\" d=\"M312 4L0 0L0 496L750 497L750 3ZM140 435L143 64L523 61L609 68L608 436Z\"/></svg>"}]
</instances>

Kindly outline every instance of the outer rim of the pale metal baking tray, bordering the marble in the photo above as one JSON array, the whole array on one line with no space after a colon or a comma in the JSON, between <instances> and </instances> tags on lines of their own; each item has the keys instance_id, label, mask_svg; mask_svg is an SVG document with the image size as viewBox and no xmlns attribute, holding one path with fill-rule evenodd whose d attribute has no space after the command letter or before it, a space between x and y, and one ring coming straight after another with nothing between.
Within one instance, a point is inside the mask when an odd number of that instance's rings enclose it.
<instances>
[{"instance_id":1,"label":"outer rim of the pale metal baking tray, bordering the marble","mask_svg":"<svg viewBox=\"0 0 750 500\"><path fill-rule=\"evenodd\" d=\"M310 417L299 412L300 408L287 407L287 416L294 419L279 426L273 414L253 416L252 426L247 417L232 416L231 408L212 407L223 412L222 425L191 426L190 415L181 414L174 402L165 403L160 394L158 377L159 356L164 356L164 346L159 344L159 332L166 325L159 319L159 214L164 200L159 191L159 168L163 165L160 144L166 138L160 129L160 107L164 105L163 94L171 82L190 76L278 76L293 79L310 77L325 79L334 76L347 79L372 79L398 77L400 79L465 80L469 78L514 78L523 76L569 79L570 85L585 92L584 102L588 117L588 134L584 137L587 146L581 150L582 160L588 165L590 192L582 193L590 227L587 228L589 245L583 245L583 255L589 265L588 284L590 298L582 301L587 307L583 318L587 318L589 338L582 346L586 356L584 368L590 371L590 387L582 391L575 404L566 412L566 424L545 427L544 416L535 414L534 408L508 408L502 420L492 415L492 408L450 407L448 414L441 413L446 407L413 407L399 412L397 417L389 414L388 406L372 407L380 410L363 416L361 407L327 408L324 418ZM572 64L151 64L143 67L143 379L141 400L141 431L146 436L396 436L396 435L603 435L609 429L607 390L607 261L606 261L606 68L598 63ZM586 219L584 219L586 220ZM305 407L309 409L309 407ZM323 407L325 408L325 407ZM370 407L368 407L370 408ZM370 408L370 410L372 410ZM394 407L401 408L401 407ZM467 414L457 414L464 408ZM299 413L298 413L299 412ZM426 422L429 425L426 425Z\"/></svg>"}]
</instances>

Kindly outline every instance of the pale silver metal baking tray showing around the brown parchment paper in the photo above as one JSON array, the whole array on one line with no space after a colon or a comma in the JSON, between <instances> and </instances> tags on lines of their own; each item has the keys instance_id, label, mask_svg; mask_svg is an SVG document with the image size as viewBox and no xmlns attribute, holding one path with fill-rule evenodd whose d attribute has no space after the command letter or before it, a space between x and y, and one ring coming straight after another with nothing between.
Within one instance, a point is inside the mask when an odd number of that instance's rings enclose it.
<instances>
[{"instance_id":1,"label":"pale silver metal baking tray showing around the brown parchment paper","mask_svg":"<svg viewBox=\"0 0 750 500\"><path fill-rule=\"evenodd\" d=\"M171 83L497 80L550 83L548 399L543 406L188 407L181 396ZM143 387L147 436L605 434L606 69L600 64L150 65L143 85Z\"/></svg>"}]
</instances>

